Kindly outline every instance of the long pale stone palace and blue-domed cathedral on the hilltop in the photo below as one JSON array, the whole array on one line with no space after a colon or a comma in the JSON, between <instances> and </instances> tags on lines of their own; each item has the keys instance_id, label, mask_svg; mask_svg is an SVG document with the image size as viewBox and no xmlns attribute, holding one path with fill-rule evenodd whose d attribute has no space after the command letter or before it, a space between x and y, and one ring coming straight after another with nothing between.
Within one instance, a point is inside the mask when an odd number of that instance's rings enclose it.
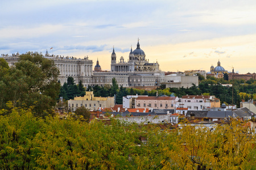
<instances>
[{"instance_id":1,"label":"long pale stone palace and blue-domed cathedral on the hilltop","mask_svg":"<svg viewBox=\"0 0 256 170\"><path fill-rule=\"evenodd\" d=\"M127 62L123 57L117 62L117 56L113 48L111 71L93 71L93 61L88 57L50 56L48 52L43 57L52 59L59 68L61 84L67 82L68 76L72 76L76 83L81 80L85 87L95 86L96 84L98 86L111 85L113 78L117 80L119 86L123 87L156 86L156 84L164 82L164 71L159 70L158 62L149 63L145 53L140 48L139 41L137 49L131 49ZM9 66L14 66L14 63L19 60L19 53L2 54L0 58L6 59Z\"/></svg>"}]
</instances>

